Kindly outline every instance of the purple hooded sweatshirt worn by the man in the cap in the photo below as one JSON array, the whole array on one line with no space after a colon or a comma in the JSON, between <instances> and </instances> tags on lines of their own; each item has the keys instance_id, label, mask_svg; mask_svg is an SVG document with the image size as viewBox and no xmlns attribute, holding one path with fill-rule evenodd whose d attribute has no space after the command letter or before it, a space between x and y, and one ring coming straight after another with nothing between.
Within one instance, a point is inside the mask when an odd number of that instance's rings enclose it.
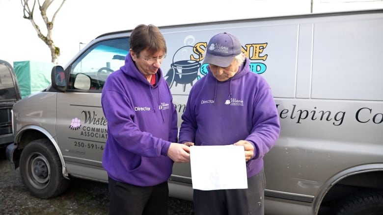
<instances>
[{"instance_id":1,"label":"purple hooded sweatshirt worn by the man in the cap","mask_svg":"<svg viewBox=\"0 0 383 215\"><path fill-rule=\"evenodd\" d=\"M180 143L195 145L252 143L254 156L246 162L247 177L263 168L263 157L280 130L271 88L261 75L250 72L249 64L246 59L239 72L223 82L208 69L190 91L179 136Z\"/></svg>"}]
</instances>

